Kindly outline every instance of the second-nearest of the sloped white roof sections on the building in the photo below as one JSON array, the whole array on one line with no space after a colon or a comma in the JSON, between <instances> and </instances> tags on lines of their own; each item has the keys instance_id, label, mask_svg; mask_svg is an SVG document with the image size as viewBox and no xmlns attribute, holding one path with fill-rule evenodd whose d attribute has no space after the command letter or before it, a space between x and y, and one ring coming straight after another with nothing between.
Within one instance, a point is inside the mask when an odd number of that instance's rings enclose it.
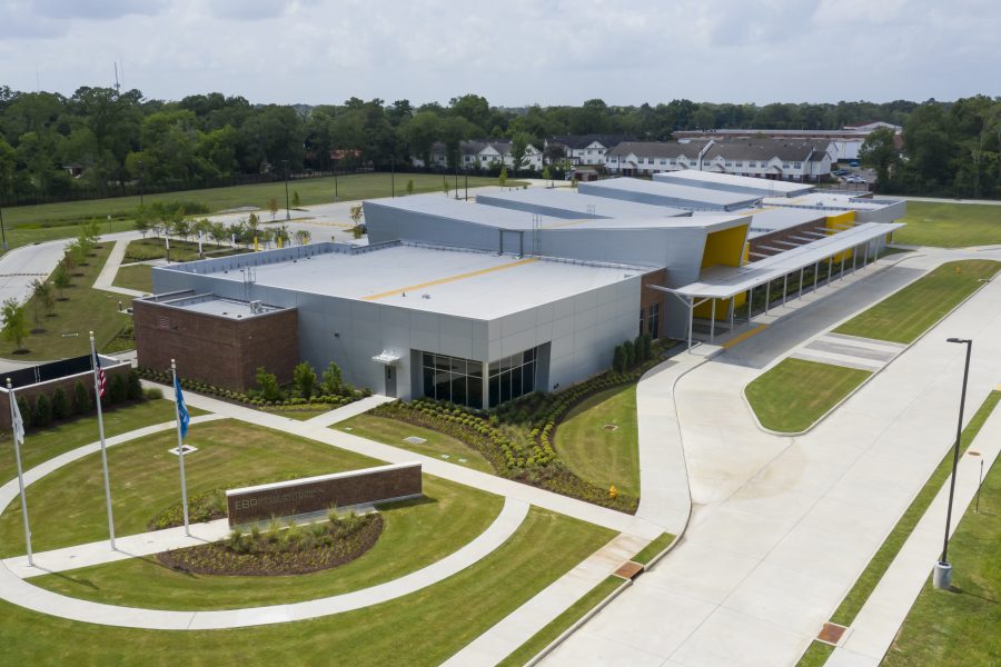
<instances>
[{"instance_id":1,"label":"second-nearest of the sloped white roof sections on the building","mask_svg":"<svg viewBox=\"0 0 1001 667\"><path fill-rule=\"evenodd\" d=\"M524 205L571 213L554 213L559 217L575 217L573 213L586 218L666 218L692 215L688 209L597 197L577 192L572 188L528 188L509 192L490 192L477 195L476 202L486 206Z\"/></svg>"}]
</instances>

